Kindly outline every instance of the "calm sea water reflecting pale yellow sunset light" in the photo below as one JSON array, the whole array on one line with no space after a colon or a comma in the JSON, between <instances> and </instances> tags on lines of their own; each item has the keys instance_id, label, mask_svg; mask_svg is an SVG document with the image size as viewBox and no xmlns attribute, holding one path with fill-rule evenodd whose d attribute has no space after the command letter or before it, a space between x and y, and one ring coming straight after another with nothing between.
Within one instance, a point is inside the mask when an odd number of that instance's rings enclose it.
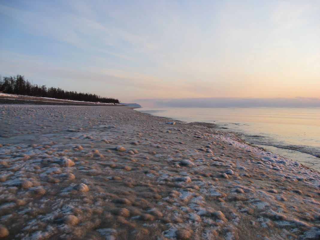
<instances>
[{"instance_id":1,"label":"calm sea water reflecting pale yellow sunset light","mask_svg":"<svg viewBox=\"0 0 320 240\"><path fill-rule=\"evenodd\" d=\"M136 108L183 122L217 124L243 140L320 171L320 108ZM319 157L316 157L319 156Z\"/></svg>"}]
</instances>

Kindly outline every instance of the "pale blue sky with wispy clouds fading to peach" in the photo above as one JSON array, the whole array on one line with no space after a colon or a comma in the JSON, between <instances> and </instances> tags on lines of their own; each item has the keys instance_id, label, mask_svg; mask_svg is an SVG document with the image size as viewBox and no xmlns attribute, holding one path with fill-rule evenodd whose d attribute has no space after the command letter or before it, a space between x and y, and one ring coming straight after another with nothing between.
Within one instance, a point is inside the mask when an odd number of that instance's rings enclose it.
<instances>
[{"instance_id":1,"label":"pale blue sky with wispy clouds fading to peach","mask_svg":"<svg viewBox=\"0 0 320 240\"><path fill-rule=\"evenodd\" d=\"M0 0L1 76L143 107L320 106L319 66L318 0Z\"/></svg>"}]
</instances>

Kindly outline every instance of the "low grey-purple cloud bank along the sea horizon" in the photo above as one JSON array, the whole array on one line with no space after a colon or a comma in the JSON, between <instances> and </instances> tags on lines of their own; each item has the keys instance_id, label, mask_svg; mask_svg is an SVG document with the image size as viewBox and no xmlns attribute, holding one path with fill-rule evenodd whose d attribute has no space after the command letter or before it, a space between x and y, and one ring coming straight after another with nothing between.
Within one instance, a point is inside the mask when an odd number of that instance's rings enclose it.
<instances>
[{"instance_id":1,"label":"low grey-purple cloud bank along the sea horizon","mask_svg":"<svg viewBox=\"0 0 320 240\"><path fill-rule=\"evenodd\" d=\"M142 107L320 107L320 98L136 99Z\"/></svg>"}]
</instances>

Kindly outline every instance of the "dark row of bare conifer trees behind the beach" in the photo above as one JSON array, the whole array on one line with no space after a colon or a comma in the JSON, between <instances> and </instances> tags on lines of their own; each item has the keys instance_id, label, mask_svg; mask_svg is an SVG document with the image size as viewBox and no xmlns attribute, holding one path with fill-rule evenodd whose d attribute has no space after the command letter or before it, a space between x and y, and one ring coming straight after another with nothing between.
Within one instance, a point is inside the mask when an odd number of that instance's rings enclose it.
<instances>
[{"instance_id":1,"label":"dark row of bare conifer trees behind the beach","mask_svg":"<svg viewBox=\"0 0 320 240\"><path fill-rule=\"evenodd\" d=\"M74 91L65 91L61 88L49 87L46 85L32 84L24 76L16 75L10 77L0 77L0 92L17 95L27 95L33 97L47 97L64 100L119 103L118 99L104 98L92 93L82 93Z\"/></svg>"}]
</instances>

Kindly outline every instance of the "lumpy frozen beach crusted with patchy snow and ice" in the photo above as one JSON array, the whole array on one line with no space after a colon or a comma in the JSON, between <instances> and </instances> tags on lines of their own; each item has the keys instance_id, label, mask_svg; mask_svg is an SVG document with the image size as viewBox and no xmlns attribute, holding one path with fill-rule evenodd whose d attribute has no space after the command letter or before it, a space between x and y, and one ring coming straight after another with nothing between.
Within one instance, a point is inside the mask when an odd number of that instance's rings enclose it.
<instances>
[{"instance_id":1,"label":"lumpy frozen beach crusted with patchy snow and ice","mask_svg":"<svg viewBox=\"0 0 320 240\"><path fill-rule=\"evenodd\" d=\"M319 173L127 107L1 105L3 239L319 239Z\"/></svg>"}]
</instances>

